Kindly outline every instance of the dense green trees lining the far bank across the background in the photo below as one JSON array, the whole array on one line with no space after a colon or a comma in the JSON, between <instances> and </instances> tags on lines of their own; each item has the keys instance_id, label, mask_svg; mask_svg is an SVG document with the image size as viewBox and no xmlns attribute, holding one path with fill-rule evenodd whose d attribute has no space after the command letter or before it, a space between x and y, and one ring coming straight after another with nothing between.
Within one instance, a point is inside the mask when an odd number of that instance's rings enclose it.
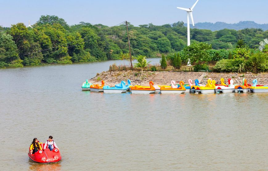
<instances>
[{"instance_id":1,"label":"dense green trees lining the far bank across the background","mask_svg":"<svg viewBox=\"0 0 268 171\"><path fill-rule=\"evenodd\" d=\"M62 18L46 15L41 16L32 27L23 23L10 28L0 27L0 67L121 59L128 54L124 22L112 27L85 22L69 26ZM187 28L183 22L162 26L150 23L138 27L130 24L128 29L134 56L160 57L160 54L182 52L187 45ZM240 46L239 42L254 50L265 38L268 38L268 31L262 29L191 29L191 43L211 44L210 51L216 54L211 60L216 61L225 59L229 50ZM188 59L181 57L182 62Z\"/></svg>"}]
</instances>

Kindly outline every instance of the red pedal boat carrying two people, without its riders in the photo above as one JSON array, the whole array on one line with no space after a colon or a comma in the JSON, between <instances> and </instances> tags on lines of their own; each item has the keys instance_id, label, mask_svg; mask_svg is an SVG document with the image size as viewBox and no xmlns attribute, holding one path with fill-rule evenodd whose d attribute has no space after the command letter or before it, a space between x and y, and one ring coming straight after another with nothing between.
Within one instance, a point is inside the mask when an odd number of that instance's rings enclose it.
<instances>
[{"instance_id":1,"label":"red pedal boat carrying two people, without its riders","mask_svg":"<svg viewBox=\"0 0 268 171\"><path fill-rule=\"evenodd\" d=\"M40 145L43 149L44 144ZM53 149L52 151L50 151L50 149L43 149L38 150L34 154L31 154L31 151L29 149L28 156L30 157L30 159L38 163L54 163L61 160L59 149Z\"/></svg>"}]
</instances>

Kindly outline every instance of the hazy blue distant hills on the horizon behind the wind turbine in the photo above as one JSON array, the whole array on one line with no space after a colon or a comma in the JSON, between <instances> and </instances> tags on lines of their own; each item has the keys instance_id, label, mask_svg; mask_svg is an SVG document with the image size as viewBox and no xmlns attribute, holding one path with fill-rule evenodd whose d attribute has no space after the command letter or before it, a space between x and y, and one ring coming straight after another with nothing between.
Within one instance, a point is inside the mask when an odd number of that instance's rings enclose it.
<instances>
[{"instance_id":1,"label":"hazy blue distant hills on the horizon behind the wind turbine","mask_svg":"<svg viewBox=\"0 0 268 171\"><path fill-rule=\"evenodd\" d=\"M187 27L187 23L184 24ZM268 24L258 24L254 21L240 21L238 23L228 24L225 22L198 22L193 27L190 24L190 28L197 29L207 29L211 31L222 30L222 29L234 29L234 30L242 30L245 28L261 28L263 31L268 30Z\"/></svg>"}]
</instances>

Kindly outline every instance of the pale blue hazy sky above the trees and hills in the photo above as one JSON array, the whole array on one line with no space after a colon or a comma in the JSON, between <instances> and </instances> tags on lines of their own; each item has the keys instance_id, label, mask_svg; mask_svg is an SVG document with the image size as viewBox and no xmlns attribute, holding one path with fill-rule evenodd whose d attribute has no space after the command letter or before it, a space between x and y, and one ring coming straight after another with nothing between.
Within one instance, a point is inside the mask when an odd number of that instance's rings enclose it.
<instances>
[{"instance_id":1,"label":"pale blue hazy sky above the trees and hills","mask_svg":"<svg viewBox=\"0 0 268 171\"><path fill-rule=\"evenodd\" d=\"M128 21L134 26L163 25L183 21L187 14L177 6L190 8L196 0L0 0L0 25L18 22L28 26L41 15L56 15L67 24L79 22L114 26ZM199 0L193 10L194 22L254 21L268 23L268 0Z\"/></svg>"}]
</instances>

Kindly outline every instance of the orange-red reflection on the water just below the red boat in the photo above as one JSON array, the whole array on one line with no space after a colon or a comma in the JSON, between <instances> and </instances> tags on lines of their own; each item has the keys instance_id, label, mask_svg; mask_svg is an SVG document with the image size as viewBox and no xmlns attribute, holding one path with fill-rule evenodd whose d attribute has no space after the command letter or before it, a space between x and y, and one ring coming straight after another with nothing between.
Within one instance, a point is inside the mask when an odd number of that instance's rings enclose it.
<instances>
[{"instance_id":1,"label":"orange-red reflection on the water just below the red boat","mask_svg":"<svg viewBox=\"0 0 268 171\"><path fill-rule=\"evenodd\" d=\"M35 170L35 171L59 171L61 170L61 161L57 163L36 163L29 159L29 170Z\"/></svg>"}]
</instances>

